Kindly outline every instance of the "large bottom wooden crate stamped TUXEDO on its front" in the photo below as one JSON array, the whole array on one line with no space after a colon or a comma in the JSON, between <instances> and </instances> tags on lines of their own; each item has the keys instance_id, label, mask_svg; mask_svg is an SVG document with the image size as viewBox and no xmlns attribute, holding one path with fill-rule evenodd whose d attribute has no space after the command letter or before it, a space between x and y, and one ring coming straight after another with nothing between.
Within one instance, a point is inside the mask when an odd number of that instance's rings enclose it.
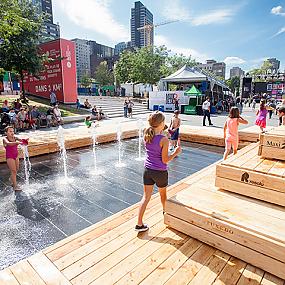
<instances>
[{"instance_id":1,"label":"large bottom wooden crate stamped TUXEDO on its front","mask_svg":"<svg viewBox=\"0 0 285 285\"><path fill-rule=\"evenodd\" d=\"M214 186L215 169L166 202L164 222L285 278L285 208Z\"/></svg>"}]
</instances>

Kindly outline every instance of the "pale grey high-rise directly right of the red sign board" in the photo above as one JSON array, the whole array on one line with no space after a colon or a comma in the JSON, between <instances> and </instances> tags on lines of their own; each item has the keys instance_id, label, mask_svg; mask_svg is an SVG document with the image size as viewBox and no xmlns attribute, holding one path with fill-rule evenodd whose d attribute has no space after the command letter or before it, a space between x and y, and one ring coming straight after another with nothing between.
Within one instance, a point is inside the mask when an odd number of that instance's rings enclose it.
<instances>
[{"instance_id":1,"label":"pale grey high-rise directly right of the red sign board","mask_svg":"<svg viewBox=\"0 0 285 285\"><path fill-rule=\"evenodd\" d=\"M80 82L82 76L90 76L90 55L91 49L89 41L82 39L71 40L75 43L77 82Z\"/></svg>"}]
</instances>

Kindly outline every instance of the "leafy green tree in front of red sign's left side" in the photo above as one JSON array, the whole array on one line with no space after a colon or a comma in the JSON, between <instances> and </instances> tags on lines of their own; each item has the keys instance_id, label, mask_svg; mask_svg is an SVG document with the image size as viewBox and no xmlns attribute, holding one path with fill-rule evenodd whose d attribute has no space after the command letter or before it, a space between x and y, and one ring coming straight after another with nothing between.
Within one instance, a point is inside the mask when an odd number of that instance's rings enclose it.
<instances>
[{"instance_id":1,"label":"leafy green tree in front of red sign's left side","mask_svg":"<svg viewBox=\"0 0 285 285\"><path fill-rule=\"evenodd\" d=\"M1 67L20 76L24 94L24 73L36 76L46 60L38 49L45 16L29 0L1 0L0 11Z\"/></svg>"}]
</instances>

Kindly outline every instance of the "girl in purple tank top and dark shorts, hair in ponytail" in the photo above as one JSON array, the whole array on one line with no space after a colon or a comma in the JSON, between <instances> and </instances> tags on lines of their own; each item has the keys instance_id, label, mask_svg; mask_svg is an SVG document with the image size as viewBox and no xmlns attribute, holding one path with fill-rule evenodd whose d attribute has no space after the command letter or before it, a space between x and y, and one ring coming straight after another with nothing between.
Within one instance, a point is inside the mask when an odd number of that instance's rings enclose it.
<instances>
[{"instance_id":1,"label":"girl in purple tank top and dark shorts, hair in ponytail","mask_svg":"<svg viewBox=\"0 0 285 285\"><path fill-rule=\"evenodd\" d=\"M143 215L151 198L153 186L157 185L163 210L166 201L166 187L168 185L167 163L181 152L180 145L168 155L169 141L162 135L165 128L165 117L161 112L152 113L149 118L149 127L145 130L144 141L146 159L144 163L144 195L139 208L138 223L135 230L143 232L148 230L148 225L143 224Z\"/></svg>"}]
</instances>

